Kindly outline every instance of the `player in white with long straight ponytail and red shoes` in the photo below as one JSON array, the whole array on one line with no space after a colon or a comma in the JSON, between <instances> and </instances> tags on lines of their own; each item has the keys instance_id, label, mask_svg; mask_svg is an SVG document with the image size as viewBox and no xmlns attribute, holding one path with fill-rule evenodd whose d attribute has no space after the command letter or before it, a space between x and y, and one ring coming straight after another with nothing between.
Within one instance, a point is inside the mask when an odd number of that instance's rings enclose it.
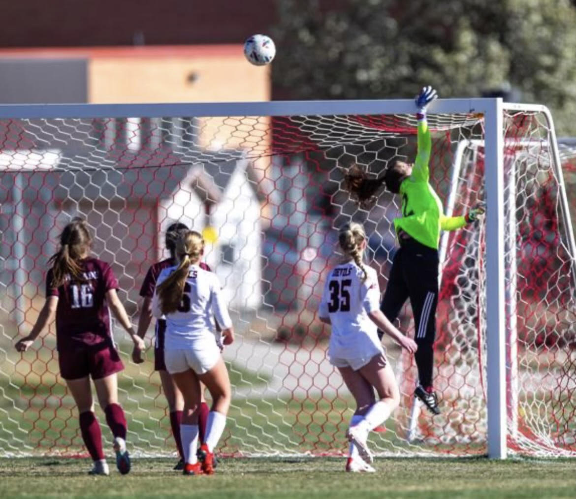
<instances>
[{"instance_id":1,"label":"player in white with long straight ponytail and red shoes","mask_svg":"<svg viewBox=\"0 0 576 499\"><path fill-rule=\"evenodd\" d=\"M204 240L195 231L183 231L176 241L177 266L162 270L152 300L154 317L166 318L164 361L184 397L180 437L184 450L184 474L214 473L214 448L226 425L232 389L228 370L214 341L214 315L222 328L223 344L234 341L234 329L222 299L218 277L200 267ZM198 445L200 382L210 391L206 441Z\"/></svg>"}]
</instances>

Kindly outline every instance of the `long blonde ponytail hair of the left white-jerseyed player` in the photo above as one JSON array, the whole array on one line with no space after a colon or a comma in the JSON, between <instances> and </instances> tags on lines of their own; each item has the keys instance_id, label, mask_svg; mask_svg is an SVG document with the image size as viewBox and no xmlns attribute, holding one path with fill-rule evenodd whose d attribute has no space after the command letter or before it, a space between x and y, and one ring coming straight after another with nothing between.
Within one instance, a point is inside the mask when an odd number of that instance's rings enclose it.
<instances>
[{"instance_id":1,"label":"long blonde ponytail hair of the left white-jerseyed player","mask_svg":"<svg viewBox=\"0 0 576 499\"><path fill-rule=\"evenodd\" d=\"M180 306L190 265L197 264L204 253L202 235L192 230L181 231L175 242L175 253L180 264L158 285L158 298L163 314L176 312Z\"/></svg>"}]
</instances>

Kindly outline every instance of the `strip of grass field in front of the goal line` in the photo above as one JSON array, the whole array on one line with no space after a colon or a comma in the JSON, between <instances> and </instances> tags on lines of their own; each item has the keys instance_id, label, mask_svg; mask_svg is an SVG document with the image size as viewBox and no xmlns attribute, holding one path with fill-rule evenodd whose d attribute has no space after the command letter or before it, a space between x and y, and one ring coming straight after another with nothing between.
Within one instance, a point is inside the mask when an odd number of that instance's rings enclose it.
<instances>
[{"instance_id":1,"label":"strip of grass field in front of the goal line","mask_svg":"<svg viewBox=\"0 0 576 499\"><path fill-rule=\"evenodd\" d=\"M173 463L141 459L130 475L89 477L86 459L0 459L0 497L576 497L576 460L566 459L377 459L370 475L344 473L335 458L225 459L212 477L183 477Z\"/></svg>"}]
</instances>

